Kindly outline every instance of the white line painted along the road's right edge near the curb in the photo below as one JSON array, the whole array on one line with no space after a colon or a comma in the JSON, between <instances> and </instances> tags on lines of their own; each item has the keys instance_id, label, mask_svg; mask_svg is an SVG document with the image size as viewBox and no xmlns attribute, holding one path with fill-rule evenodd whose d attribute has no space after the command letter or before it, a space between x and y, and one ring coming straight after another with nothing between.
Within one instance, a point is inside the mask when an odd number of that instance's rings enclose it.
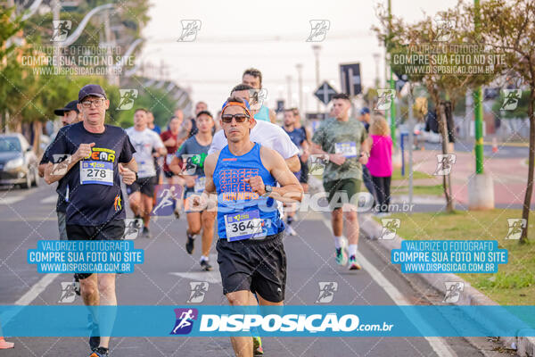
<instances>
[{"instance_id":1,"label":"white line painted along the road's right edge near the curb","mask_svg":"<svg viewBox=\"0 0 535 357\"><path fill-rule=\"evenodd\" d=\"M329 231L332 232L331 228L331 221L326 220L324 218L323 222L325 223L325 226ZM375 282L383 288L383 290L388 294L391 299L396 303L397 305L412 305L408 302L408 300L405 298L403 294L398 290L396 286L393 286L391 282L384 277L383 273L374 267L374 265L369 262L364 255L362 255L360 252L357 252L357 260L362 266L364 270L372 277ZM424 319L418 316L416 311L410 311L411 313L407 313L404 311L404 313L407 315L407 318L413 322L415 322L415 326L422 326L423 324L426 324L424 322ZM418 319L419 318L419 319ZM425 327L425 330L429 331L429 327ZM440 357L457 357L457 353L449 347L449 345L444 341L442 337L429 337L424 336L424 338L429 342L429 345L431 345L433 351L437 353Z\"/></svg>"}]
</instances>

